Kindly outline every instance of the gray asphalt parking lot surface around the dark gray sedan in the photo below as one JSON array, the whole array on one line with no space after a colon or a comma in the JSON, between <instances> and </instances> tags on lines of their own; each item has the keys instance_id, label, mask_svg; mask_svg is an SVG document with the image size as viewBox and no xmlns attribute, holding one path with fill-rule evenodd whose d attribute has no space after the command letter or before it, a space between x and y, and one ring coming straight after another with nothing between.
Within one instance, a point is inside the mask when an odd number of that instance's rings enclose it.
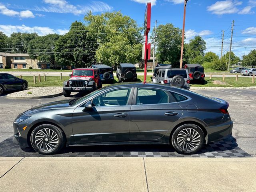
<instances>
[{"instance_id":1,"label":"gray asphalt parking lot surface around the dark gray sedan","mask_svg":"<svg viewBox=\"0 0 256 192\"><path fill-rule=\"evenodd\" d=\"M256 156L256 90L223 89L195 90L195 92L209 97L222 98L229 102L230 107L228 108L228 111L234 121L232 136L235 138L236 144L240 149L252 156ZM12 122L18 114L39 104L63 99L67 98L59 96L46 99L10 100L6 98L6 95L1 96L0 142L6 141L10 143L10 137L13 134ZM90 150L93 149L91 148ZM99 152L100 148L97 148L97 150L97 152ZM102 151L104 150L106 149L102 149ZM122 155L124 155L124 153ZM153 153L151 155L154 156ZM130 156L132 155L130 154Z\"/></svg>"}]
</instances>

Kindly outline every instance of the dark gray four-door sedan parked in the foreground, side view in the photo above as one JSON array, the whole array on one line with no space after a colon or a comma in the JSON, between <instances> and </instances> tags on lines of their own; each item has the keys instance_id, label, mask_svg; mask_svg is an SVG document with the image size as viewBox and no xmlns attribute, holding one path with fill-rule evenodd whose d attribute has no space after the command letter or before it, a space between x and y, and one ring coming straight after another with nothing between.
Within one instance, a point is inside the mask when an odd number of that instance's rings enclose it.
<instances>
[{"instance_id":1,"label":"dark gray four-door sedan parked in the foreground, side view","mask_svg":"<svg viewBox=\"0 0 256 192\"><path fill-rule=\"evenodd\" d=\"M232 134L228 103L163 84L122 83L20 114L14 142L40 154L67 146L171 144L194 154Z\"/></svg>"}]
</instances>

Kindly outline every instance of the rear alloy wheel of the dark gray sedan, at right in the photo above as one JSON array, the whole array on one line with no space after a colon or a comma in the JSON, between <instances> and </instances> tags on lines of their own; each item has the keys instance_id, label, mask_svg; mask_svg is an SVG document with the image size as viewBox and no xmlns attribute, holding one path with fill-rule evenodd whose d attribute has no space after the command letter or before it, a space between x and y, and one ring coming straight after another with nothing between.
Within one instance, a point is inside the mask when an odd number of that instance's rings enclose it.
<instances>
[{"instance_id":1,"label":"rear alloy wheel of the dark gray sedan, at right","mask_svg":"<svg viewBox=\"0 0 256 192\"><path fill-rule=\"evenodd\" d=\"M186 151L198 148L200 140L200 134L193 128L184 128L177 136L177 144Z\"/></svg>"}]
</instances>

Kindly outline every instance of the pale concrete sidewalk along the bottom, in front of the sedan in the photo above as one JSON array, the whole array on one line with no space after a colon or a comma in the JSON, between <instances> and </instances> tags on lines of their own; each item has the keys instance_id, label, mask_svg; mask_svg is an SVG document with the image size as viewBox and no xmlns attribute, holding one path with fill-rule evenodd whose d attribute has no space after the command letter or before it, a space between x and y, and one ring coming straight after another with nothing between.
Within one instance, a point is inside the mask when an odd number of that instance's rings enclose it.
<instances>
[{"instance_id":1,"label":"pale concrete sidewalk along the bottom, in front of the sedan","mask_svg":"<svg viewBox=\"0 0 256 192\"><path fill-rule=\"evenodd\" d=\"M256 158L0 158L1 192L256 191Z\"/></svg>"}]
</instances>

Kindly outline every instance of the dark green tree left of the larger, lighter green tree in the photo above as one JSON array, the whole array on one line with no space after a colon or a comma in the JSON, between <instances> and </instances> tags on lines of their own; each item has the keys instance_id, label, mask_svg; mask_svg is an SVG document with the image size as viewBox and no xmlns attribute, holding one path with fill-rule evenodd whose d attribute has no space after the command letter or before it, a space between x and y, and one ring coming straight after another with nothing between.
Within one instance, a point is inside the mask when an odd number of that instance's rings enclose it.
<instances>
[{"instance_id":1,"label":"dark green tree left of the larger, lighter green tree","mask_svg":"<svg viewBox=\"0 0 256 192\"><path fill-rule=\"evenodd\" d=\"M82 22L75 21L56 42L56 62L66 66L89 67L94 62L98 44Z\"/></svg>"}]
</instances>

